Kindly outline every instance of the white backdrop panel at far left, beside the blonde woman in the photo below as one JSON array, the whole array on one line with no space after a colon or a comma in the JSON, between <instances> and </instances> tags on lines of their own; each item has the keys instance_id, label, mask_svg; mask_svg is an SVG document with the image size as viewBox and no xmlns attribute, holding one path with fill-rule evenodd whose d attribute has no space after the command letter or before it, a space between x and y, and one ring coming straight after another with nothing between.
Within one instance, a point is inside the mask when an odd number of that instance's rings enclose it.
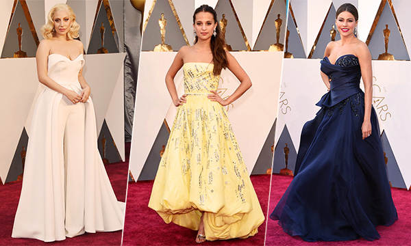
<instances>
[{"instance_id":1,"label":"white backdrop panel at far left, beside the blonde woman","mask_svg":"<svg viewBox=\"0 0 411 246\"><path fill-rule=\"evenodd\" d=\"M4 182L38 87L36 59L0 59L0 74L0 177Z\"/></svg>"}]
</instances>

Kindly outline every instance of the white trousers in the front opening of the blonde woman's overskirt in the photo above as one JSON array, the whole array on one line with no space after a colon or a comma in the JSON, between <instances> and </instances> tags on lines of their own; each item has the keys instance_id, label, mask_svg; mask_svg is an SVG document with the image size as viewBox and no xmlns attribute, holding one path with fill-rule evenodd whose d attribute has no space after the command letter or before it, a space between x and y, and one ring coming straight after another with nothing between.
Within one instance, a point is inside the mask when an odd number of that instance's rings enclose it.
<instances>
[{"instance_id":1,"label":"white trousers in the front opening of the blonde woman's overskirt","mask_svg":"<svg viewBox=\"0 0 411 246\"><path fill-rule=\"evenodd\" d=\"M66 236L84 234L84 122L82 102L63 97L58 115L59 139L64 151Z\"/></svg>"}]
</instances>

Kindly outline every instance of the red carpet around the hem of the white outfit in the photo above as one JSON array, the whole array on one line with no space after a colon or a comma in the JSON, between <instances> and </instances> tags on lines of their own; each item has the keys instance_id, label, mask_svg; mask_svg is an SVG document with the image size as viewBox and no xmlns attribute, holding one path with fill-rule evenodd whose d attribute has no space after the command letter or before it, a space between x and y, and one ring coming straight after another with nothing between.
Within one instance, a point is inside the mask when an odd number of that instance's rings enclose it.
<instances>
[{"instance_id":1,"label":"red carpet around the hem of the white outfit","mask_svg":"<svg viewBox=\"0 0 411 246\"><path fill-rule=\"evenodd\" d=\"M125 163L105 165L117 200L125 202L128 160ZM121 231L86 233L64 241L45 243L37 239L12 238L14 214L20 197L21 181L0 185L0 245L121 245Z\"/></svg>"}]
</instances>

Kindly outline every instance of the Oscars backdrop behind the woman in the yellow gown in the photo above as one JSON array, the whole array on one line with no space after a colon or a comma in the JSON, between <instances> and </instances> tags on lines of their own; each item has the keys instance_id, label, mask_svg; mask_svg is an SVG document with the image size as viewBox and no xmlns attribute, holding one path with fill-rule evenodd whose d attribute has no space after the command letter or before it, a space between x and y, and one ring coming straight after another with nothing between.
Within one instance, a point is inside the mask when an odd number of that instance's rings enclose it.
<instances>
[{"instance_id":1,"label":"Oscars backdrop behind the woman in the yellow gown","mask_svg":"<svg viewBox=\"0 0 411 246\"><path fill-rule=\"evenodd\" d=\"M136 181L155 178L177 111L164 78L180 47L193 44L192 14L205 3L216 10L227 50L253 83L249 91L226 107L247 169L252 174L265 174L271 168L286 1L147 0L129 162ZM182 79L180 70L175 77L179 96L184 94ZM232 94L238 85L234 74L223 70L218 90L221 97Z\"/></svg>"}]
</instances>

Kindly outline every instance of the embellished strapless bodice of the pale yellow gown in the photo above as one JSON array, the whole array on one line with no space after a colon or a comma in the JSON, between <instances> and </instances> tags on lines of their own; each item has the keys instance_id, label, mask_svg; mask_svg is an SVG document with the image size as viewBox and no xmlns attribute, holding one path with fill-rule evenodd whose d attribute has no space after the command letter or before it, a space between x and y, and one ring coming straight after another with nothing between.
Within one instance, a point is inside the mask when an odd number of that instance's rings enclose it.
<instances>
[{"instance_id":1,"label":"embellished strapless bodice of the pale yellow gown","mask_svg":"<svg viewBox=\"0 0 411 246\"><path fill-rule=\"evenodd\" d=\"M210 94L210 90L217 90L220 76L212 72L213 64L202 62L187 62L183 66L184 93Z\"/></svg>"}]
</instances>

